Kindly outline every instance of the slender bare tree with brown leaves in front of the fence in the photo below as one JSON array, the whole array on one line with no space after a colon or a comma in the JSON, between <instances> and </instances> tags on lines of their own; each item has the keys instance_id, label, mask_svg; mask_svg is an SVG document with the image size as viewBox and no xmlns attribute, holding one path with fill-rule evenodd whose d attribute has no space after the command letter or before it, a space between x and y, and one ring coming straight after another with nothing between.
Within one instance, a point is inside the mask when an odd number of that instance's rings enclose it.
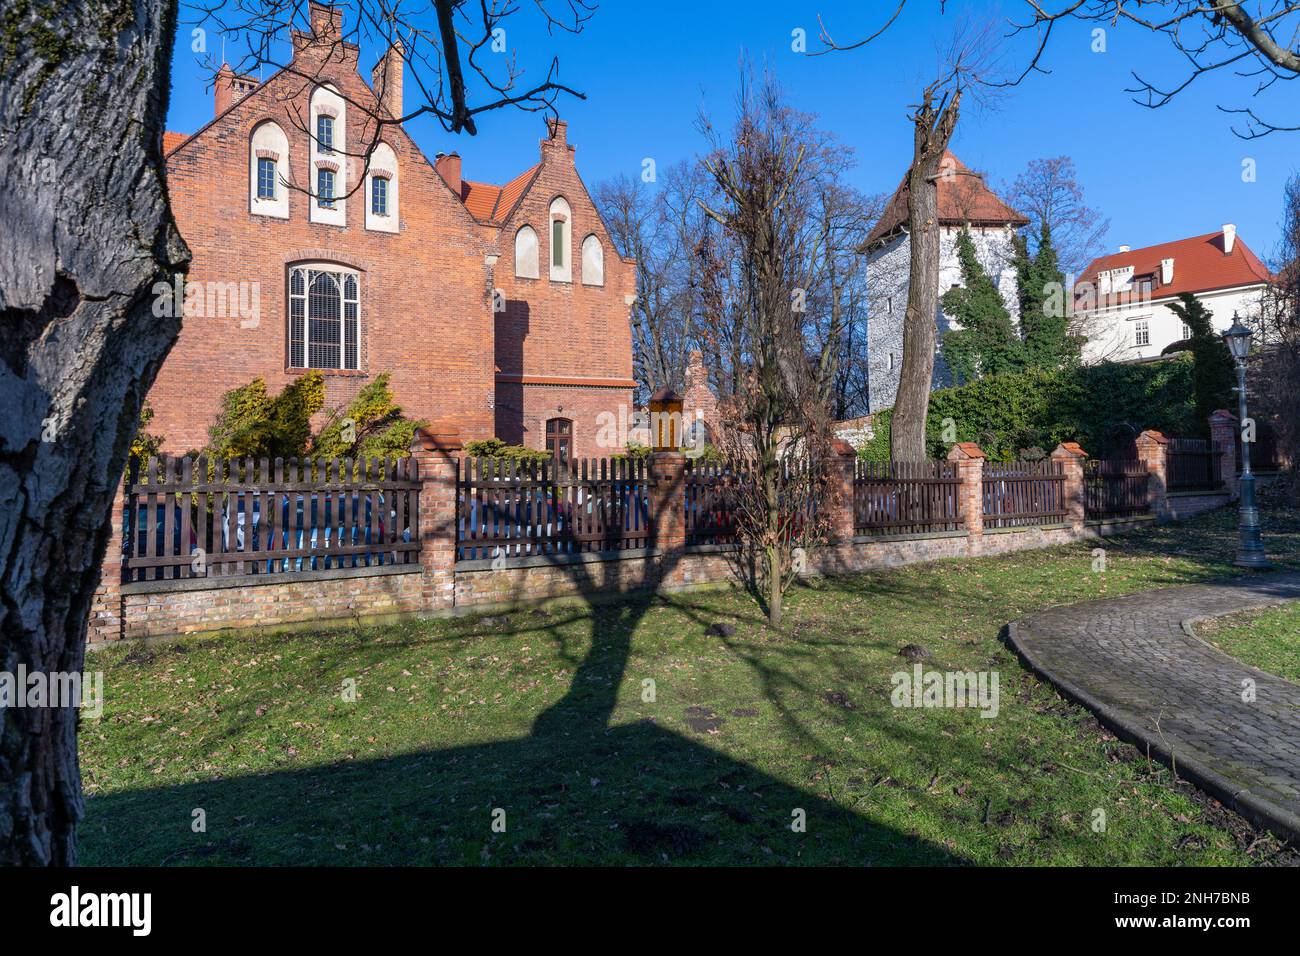
<instances>
[{"instance_id":1,"label":"slender bare tree with brown leaves in front of the fence","mask_svg":"<svg viewBox=\"0 0 1300 956\"><path fill-rule=\"evenodd\" d=\"M731 254L705 272L707 313L734 319L744 355L733 369L741 388L722 405L716 440L734 483L737 533L755 557L774 627L802 570L800 555L826 532L828 509L812 505L828 489L827 399L838 343L832 330L810 350L803 284L812 261L806 243L819 234L809 215L819 143L790 118L770 77L758 88L745 82L731 138L715 135L703 161L718 193L703 208Z\"/></svg>"}]
</instances>

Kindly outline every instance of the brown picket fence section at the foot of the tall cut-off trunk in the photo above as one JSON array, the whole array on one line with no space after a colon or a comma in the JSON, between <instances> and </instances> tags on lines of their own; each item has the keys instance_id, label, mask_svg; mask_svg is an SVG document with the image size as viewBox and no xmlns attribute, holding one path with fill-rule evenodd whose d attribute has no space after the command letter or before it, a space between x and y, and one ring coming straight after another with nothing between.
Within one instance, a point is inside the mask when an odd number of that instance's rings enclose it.
<instances>
[{"instance_id":1,"label":"brown picket fence section at the foot of the tall cut-off trunk","mask_svg":"<svg viewBox=\"0 0 1300 956\"><path fill-rule=\"evenodd\" d=\"M961 484L954 462L855 462L853 533L959 531Z\"/></svg>"}]
</instances>

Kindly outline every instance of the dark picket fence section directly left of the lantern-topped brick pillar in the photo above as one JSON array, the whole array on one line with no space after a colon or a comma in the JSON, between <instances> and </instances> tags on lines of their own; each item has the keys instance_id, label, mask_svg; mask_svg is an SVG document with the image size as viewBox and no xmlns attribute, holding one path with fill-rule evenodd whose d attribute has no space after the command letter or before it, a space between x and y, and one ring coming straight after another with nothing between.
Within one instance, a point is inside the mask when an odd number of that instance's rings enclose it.
<instances>
[{"instance_id":1,"label":"dark picket fence section directly left of the lantern-topped brick pillar","mask_svg":"<svg viewBox=\"0 0 1300 956\"><path fill-rule=\"evenodd\" d=\"M456 497L459 561L650 546L644 460L464 458Z\"/></svg>"}]
</instances>

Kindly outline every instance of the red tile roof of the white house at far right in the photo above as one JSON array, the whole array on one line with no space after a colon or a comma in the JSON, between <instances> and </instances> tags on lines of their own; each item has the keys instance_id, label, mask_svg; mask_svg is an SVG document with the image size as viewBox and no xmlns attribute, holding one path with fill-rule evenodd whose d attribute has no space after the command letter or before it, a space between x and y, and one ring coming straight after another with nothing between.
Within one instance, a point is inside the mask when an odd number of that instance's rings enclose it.
<instances>
[{"instance_id":1,"label":"red tile roof of the white house at far right","mask_svg":"<svg viewBox=\"0 0 1300 956\"><path fill-rule=\"evenodd\" d=\"M1160 284L1160 263L1174 260L1174 281ZM1223 230L1193 235L1190 239L1162 242L1158 246L1134 248L1127 252L1093 259L1075 284L1075 295L1100 295L1097 276L1110 269L1131 265L1134 277L1154 274L1156 282L1150 297L1165 299L1179 293L1208 293L1216 289L1232 289L1243 285L1258 285L1271 281L1269 269L1258 260L1242 237L1232 243L1232 252L1223 254ZM1089 285L1084 285L1084 284ZM1135 300L1139 293L1121 293L1105 297L1108 304L1121 304Z\"/></svg>"}]
</instances>

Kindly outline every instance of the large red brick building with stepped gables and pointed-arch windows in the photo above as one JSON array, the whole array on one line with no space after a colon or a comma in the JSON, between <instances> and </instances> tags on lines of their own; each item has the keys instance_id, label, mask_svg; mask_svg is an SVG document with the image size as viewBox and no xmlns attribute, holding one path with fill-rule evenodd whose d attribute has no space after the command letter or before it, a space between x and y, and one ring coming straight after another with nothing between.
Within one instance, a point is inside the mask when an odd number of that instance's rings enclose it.
<instances>
[{"instance_id":1,"label":"large red brick building with stepped gables and pointed-arch windows","mask_svg":"<svg viewBox=\"0 0 1300 956\"><path fill-rule=\"evenodd\" d=\"M402 114L400 56L367 83L338 17L312 4L289 69L224 70L212 121L165 135L194 260L151 429L168 451L202 447L225 392L318 368L330 406L389 372L408 415L464 440L541 449L550 432L572 454L618 451L597 445L597 415L630 406L634 271L566 125L504 186L465 179L456 153L430 163L399 124L378 126Z\"/></svg>"}]
</instances>

